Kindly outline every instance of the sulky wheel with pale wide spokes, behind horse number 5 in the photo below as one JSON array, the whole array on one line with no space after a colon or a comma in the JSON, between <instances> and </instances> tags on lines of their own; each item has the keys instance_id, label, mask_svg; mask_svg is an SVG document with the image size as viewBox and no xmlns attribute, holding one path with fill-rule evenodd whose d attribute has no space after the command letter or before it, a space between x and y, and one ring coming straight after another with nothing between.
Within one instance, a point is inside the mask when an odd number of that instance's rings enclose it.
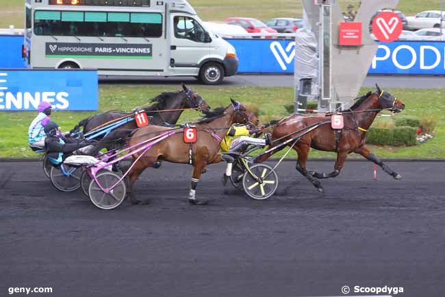
<instances>
[{"instance_id":1,"label":"sulky wheel with pale wide spokes, behind horse number 5","mask_svg":"<svg viewBox=\"0 0 445 297\"><path fill-rule=\"evenodd\" d=\"M277 172L272 171L272 167L266 164L257 164L250 167L250 171L259 182L246 171L242 178L242 187L247 195L255 200L266 200L272 196L278 188Z\"/></svg>"}]
</instances>

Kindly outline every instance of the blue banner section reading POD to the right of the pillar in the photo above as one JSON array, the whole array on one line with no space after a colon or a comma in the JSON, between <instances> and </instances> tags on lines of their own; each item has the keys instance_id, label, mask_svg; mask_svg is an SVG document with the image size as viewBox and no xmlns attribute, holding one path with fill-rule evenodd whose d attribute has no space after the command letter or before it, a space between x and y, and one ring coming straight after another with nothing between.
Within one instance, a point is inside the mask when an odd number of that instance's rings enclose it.
<instances>
[{"instance_id":1,"label":"blue banner section reading POD to the right of the pillar","mask_svg":"<svg viewBox=\"0 0 445 297\"><path fill-rule=\"evenodd\" d=\"M445 75L444 56L443 42L381 43L372 60L369 73Z\"/></svg>"}]
</instances>

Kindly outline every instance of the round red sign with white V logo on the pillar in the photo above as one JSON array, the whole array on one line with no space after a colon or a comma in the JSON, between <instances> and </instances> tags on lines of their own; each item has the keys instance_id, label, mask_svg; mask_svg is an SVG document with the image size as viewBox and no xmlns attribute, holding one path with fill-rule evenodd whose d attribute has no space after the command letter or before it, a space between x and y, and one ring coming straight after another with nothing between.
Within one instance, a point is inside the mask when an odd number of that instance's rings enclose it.
<instances>
[{"instance_id":1,"label":"round red sign with white V logo on the pillar","mask_svg":"<svg viewBox=\"0 0 445 297\"><path fill-rule=\"evenodd\" d=\"M403 24L394 12L381 12L372 21L372 33L383 43L391 43L401 36Z\"/></svg>"}]
</instances>

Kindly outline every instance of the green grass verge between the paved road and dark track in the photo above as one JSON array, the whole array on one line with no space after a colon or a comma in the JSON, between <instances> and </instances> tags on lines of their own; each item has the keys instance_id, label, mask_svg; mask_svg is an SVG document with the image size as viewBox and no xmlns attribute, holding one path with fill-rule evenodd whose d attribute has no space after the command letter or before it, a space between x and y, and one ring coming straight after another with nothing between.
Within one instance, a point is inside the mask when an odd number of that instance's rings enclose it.
<instances>
[{"instance_id":1,"label":"green grass verge between the paved road and dark track","mask_svg":"<svg viewBox=\"0 0 445 297\"><path fill-rule=\"evenodd\" d=\"M140 85L101 85L99 87L100 111L111 109L131 110L136 106L146 104L150 98L164 91L179 90L173 86L140 86ZM258 87L208 87L197 86L194 91L200 93L212 106L227 106L229 98L240 102L251 102L259 108L259 115L285 117L288 112L285 106L292 104L292 88L258 88ZM366 93L363 88L361 93ZM380 147L370 145L372 152L383 158L445 158L445 122L442 117L442 103L445 89L389 89L406 104L401 115L418 117L437 117L437 127L434 139L413 147ZM51 116L63 130L70 130L75 124L95 112L54 112ZM0 157L18 158L35 157L36 154L27 147L27 129L36 112L0 112ZM269 116L270 117L270 116ZM269 120L269 117L266 117ZM194 111L183 112L180 123L198 119ZM271 118L270 118L271 119ZM281 156L280 152L276 156ZM296 154L291 152L290 158ZM335 154L312 150L311 158L335 158ZM358 157L351 154L351 157Z\"/></svg>"}]
</instances>

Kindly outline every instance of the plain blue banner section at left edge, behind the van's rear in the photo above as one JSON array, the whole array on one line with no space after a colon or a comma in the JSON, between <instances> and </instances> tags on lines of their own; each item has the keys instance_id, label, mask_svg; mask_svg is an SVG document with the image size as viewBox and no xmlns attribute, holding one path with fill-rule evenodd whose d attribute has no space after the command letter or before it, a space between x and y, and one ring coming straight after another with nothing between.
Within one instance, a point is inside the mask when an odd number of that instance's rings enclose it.
<instances>
[{"instance_id":1,"label":"plain blue banner section at left edge, behind the van's rear","mask_svg":"<svg viewBox=\"0 0 445 297\"><path fill-rule=\"evenodd\" d=\"M0 36L0 68L27 68L22 58L23 36Z\"/></svg>"}]
</instances>

